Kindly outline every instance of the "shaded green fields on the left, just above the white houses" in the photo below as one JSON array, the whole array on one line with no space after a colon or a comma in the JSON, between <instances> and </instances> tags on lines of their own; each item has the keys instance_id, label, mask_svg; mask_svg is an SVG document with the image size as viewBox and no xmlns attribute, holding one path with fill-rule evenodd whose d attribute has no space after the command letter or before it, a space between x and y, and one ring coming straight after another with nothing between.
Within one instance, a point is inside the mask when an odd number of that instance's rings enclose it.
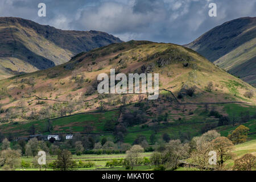
<instances>
[{"instance_id":1,"label":"shaded green fields on the left, just above the white houses","mask_svg":"<svg viewBox=\"0 0 256 182\"><path fill-rule=\"evenodd\" d=\"M104 132L104 125L106 122L117 119L118 111L107 111L105 113L97 114L76 114L68 117L51 119L53 131L52 133L76 133L82 132L84 126L93 126L92 133ZM5 133L12 133L15 136L29 135L27 130L31 125L35 125L36 133L49 134L46 130L47 119L30 122L13 122L1 125L0 131Z\"/></svg>"}]
</instances>

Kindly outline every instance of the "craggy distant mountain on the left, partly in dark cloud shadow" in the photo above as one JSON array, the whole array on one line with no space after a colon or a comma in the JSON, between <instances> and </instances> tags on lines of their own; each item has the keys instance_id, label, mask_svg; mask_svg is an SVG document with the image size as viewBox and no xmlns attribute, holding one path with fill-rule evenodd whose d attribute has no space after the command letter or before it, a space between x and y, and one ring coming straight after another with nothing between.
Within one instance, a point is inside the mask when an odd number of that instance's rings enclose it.
<instances>
[{"instance_id":1,"label":"craggy distant mountain on the left, partly in dark cloud shadow","mask_svg":"<svg viewBox=\"0 0 256 182\"><path fill-rule=\"evenodd\" d=\"M122 42L100 31L64 31L0 17L0 79L63 64L80 52Z\"/></svg>"}]
</instances>

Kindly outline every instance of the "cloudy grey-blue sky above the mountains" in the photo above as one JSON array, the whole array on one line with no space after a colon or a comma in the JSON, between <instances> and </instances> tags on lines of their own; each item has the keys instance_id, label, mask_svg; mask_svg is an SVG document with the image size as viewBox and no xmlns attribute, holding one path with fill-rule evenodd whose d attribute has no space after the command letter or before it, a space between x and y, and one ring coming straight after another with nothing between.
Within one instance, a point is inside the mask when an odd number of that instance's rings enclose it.
<instances>
[{"instance_id":1,"label":"cloudy grey-blue sky above the mountains","mask_svg":"<svg viewBox=\"0 0 256 182\"><path fill-rule=\"evenodd\" d=\"M46 16L38 16L38 4ZM217 16L210 17L209 4ZM0 16L63 30L98 30L123 41L187 44L224 22L256 16L256 0L0 0Z\"/></svg>"}]
</instances>

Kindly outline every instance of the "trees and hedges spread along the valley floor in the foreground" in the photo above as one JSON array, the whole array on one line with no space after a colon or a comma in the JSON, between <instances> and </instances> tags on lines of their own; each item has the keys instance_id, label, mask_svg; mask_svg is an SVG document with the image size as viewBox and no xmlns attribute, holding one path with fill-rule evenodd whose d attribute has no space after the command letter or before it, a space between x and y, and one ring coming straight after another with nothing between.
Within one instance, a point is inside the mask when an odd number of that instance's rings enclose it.
<instances>
[{"instance_id":1,"label":"trees and hedges spread along the valley floor in the foreground","mask_svg":"<svg viewBox=\"0 0 256 182\"><path fill-rule=\"evenodd\" d=\"M243 125L237 127L228 135L228 138L221 137L215 131L210 130L200 137L193 137L191 140L171 139L165 133L162 139L155 139L155 135L151 135L151 144L147 143L146 137L138 135L134 140L133 146L128 143L114 143L108 138L96 140L92 137L75 135L72 140L65 142L50 143L43 140L32 138L26 143L24 140L19 140L14 146L10 147L8 139L4 138L1 144L0 151L0 166L4 170L14 170L19 166L30 166L24 161L20 162L20 156L38 155L38 151L46 151L47 155L57 156L55 162L47 164L47 167L56 170L71 170L76 167L91 167L94 164L84 164L82 161L76 163L72 160L72 154L68 149L75 149L76 155L85 154L86 151L93 151L94 154L114 154L117 152L126 152L126 159L121 161L113 161L108 165L125 165L127 169L134 169L137 164L154 164L155 170L176 169L181 163L191 167L199 168L200 170L208 169L223 169L224 163L229 159L234 159L232 150L234 144L246 142L249 129ZM1 137L1 136L0 136ZM150 159L142 158L142 152L148 151L148 148L153 148ZM153 150L152 149L152 150ZM216 152L216 165L209 163L209 154L211 151ZM36 160L33 162L36 166ZM255 167L255 156L246 154L242 158L234 161L234 170L251 170Z\"/></svg>"}]
</instances>

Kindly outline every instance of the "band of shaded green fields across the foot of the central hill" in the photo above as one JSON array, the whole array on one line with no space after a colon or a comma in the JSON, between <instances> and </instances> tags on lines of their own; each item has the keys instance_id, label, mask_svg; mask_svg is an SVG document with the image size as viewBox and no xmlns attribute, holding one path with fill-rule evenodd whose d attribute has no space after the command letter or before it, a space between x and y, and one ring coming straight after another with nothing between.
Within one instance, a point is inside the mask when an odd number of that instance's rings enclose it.
<instances>
[{"instance_id":1,"label":"band of shaded green fields across the foot of the central hill","mask_svg":"<svg viewBox=\"0 0 256 182\"><path fill-rule=\"evenodd\" d=\"M230 119L236 117L240 119L240 113L248 111L250 115L255 115L256 107L251 105L239 105L239 104L225 104L225 105L216 105L216 107L223 108L222 113L226 113ZM170 108L171 109L171 108ZM214 124L217 125L218 118L209 117L209 111L205 112L204 106L196 106L193 110L193 114L189 115L188 111L184 113L173 114L170 111L168 112L168 123L160 123L159 130L155 134L156 139L161 138L163 133L170 135L172 139L178 139L181 135L189 135L190 137L195 137L201 134L201 128L205 125ZM104 125L109 121L117 121L119 111L106 111L103 113L95 114L75 114L63 118L51 119L53 130L52 133L82 133L84 132L84 126L90 125L93 127L92 133L113 138L111 131L105 131ZM148 117L154 118L154 117ZM180 119L178 119L180 118ZM236 129L238 125L245 125L249 127L250 134L249 138L256 138L256 120L251 119L246 123L236 123L235 126L232 126L232 123L227 126L221 126L215 128L220 131L221 135L228 136L232 130ZM18 136L27 136L28 129L31 125L35 125L36 133L40 134L49 134L46 132L47 120L39 121L30 121L30 122L13 122L13 123L2 123L0 131L3 134L12 134L14 137ZM136 125L127 128L128 133L125 135L124 142L132 144L138 135L144 135L147 141L150 141L150 135L154 134L155 131L152 127L142 127L142 125ZM100 137L100 138L101 138Z\"/></svg>"}]
</instances>

